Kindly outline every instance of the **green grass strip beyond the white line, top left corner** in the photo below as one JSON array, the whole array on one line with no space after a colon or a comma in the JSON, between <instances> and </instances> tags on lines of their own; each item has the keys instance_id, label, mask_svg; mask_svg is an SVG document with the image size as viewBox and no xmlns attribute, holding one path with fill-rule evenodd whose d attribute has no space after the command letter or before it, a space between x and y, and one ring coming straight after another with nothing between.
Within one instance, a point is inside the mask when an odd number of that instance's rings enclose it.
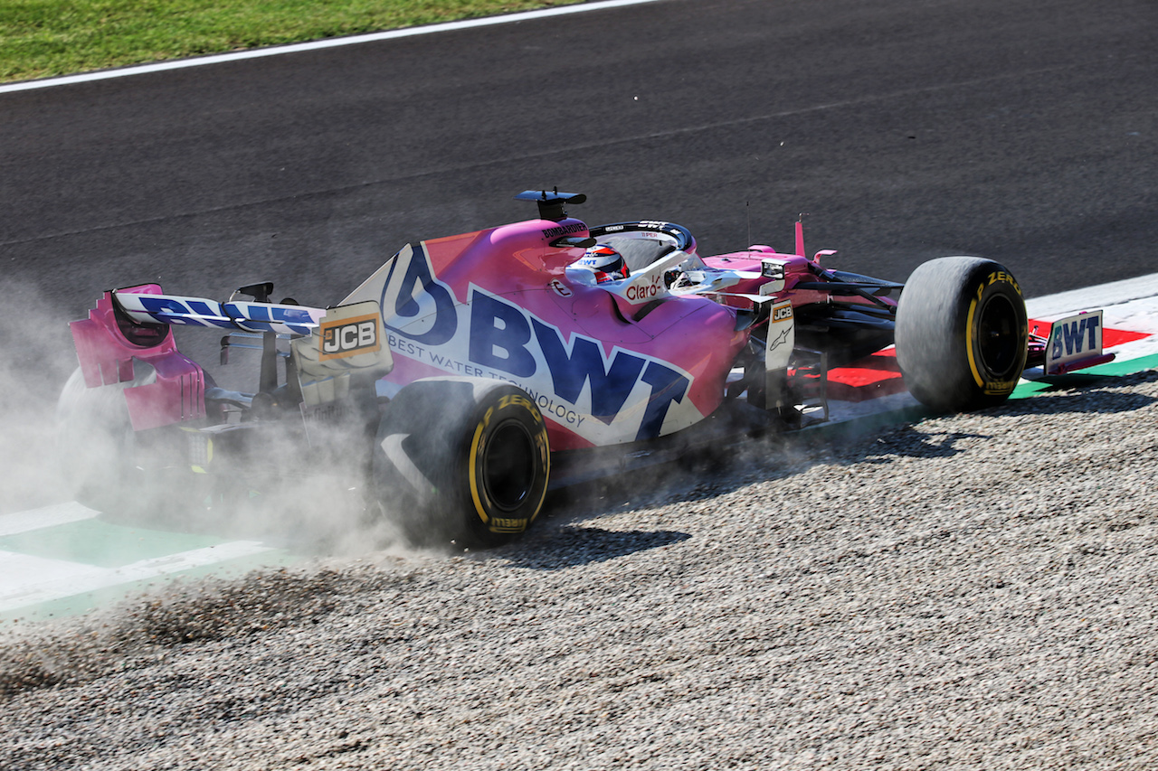
<instances>
[{"instance_id":1,"label":"green grass strip beyond the white line, top left corner","mask_svg":"<svg viewBox=\"0 0 1158 771\"><path fill-rule=\"evenodd\" d=\"M0 82L579 0L2 0Z\"/></svg>"}]
</instances>

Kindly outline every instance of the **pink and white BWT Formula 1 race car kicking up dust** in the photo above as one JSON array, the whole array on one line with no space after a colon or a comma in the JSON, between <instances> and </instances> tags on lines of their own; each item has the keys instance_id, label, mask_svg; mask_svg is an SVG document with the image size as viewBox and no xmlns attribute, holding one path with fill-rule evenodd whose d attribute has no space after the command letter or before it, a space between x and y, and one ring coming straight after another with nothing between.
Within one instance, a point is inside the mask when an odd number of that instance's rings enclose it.
<instances>
[{"instance_id":1,"label":"pink and white BWT Formula 1 race car kicking up dust","mask_svg":"<svg viewBox=\"0 0 1158 771\"><path fill-rule=\"evenodd\" d=\"M493 544L535 521L574 458L638 457L738 418L824 420L828 369L894 344L908 389L941 411L999 403L1028 366L1106 360L1098 314L1055 324L1064 340L1031 335L992 260L931 260L902 292L805 256L799 222L792 254L701 258L672 222L588 227L565 212L582 194L516 198L538 216L408 244L330 308L270 302L271 284L227 302L105 292L72 324L80 369L60 402L78 498L117 506L162 468L329 463L415 541ZM256 390L217 387L175 324L227 331L222 360L259 351Z\"/></svg>"}]
</instances>

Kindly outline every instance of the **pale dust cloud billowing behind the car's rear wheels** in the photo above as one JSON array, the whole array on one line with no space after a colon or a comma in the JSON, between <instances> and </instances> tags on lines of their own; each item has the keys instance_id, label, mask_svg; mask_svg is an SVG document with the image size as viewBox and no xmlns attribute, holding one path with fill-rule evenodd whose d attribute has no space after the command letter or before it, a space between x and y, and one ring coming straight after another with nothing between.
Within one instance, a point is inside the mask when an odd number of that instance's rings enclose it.
<instances>
[{"instance_id":1,"label":"pale dust cloud billowing behind the car's rear wheels","mask_svg":"<svg viewBox=\"0 0 1158 771\"><path fill-rule=\"evenodd\" d=\"M285 423L298 424L296 431L262 432L261 447L250 453L251 467L227 468L212 479L192 473L179 457L148 473L118 469L110 462L118 454L129 453L138 461L122 467L148 465L155 450L147 438L138 435L126 448L116 436L127 423L116 387L83 388L68 322L82 318L87 308L56 307L59 303L54 306L36 287L10 281L6 286L0 324L0 392L6 396L0 402L0 463L6 470L0 515L78 500L100 511L107 522L259 541L301 557L402 548L397 530L379 507L367 506L365 436L324 438L337 449L318 458L309 450L301 421L291 419ZM220 335L175 331L178 348L215 382L257 390L256 352L251 358L249 352L234 352L230 364L220 366ZM113 435L101 435L103 429ZM100 480L104 489L89 490L86 479Z\"/></svg>"}]
</instances>

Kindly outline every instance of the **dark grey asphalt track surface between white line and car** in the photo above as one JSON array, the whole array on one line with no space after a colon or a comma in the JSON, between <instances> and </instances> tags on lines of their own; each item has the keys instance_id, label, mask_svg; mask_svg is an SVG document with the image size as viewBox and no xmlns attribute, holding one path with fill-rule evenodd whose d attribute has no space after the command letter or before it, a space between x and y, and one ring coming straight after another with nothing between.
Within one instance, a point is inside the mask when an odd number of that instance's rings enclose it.
<instances>
[{"instance_id":1,"label":"dark grey asphalt track surface between white line and car","mask_svg":"<svg viewBox=\"0 0 1158 771\"><path fill-rule=\"evenodd\" d=\"M1150 0L670 0L5 94L3 281L72 317L145 280L324 306L408 241L523 219L511 196L542 185L586 192L592 223L681 222L702 254L785 248L806 213L809 250L884 278L962 252L1031 296L1139 276L1156 21Z\"/></svg>"}]
</instances>

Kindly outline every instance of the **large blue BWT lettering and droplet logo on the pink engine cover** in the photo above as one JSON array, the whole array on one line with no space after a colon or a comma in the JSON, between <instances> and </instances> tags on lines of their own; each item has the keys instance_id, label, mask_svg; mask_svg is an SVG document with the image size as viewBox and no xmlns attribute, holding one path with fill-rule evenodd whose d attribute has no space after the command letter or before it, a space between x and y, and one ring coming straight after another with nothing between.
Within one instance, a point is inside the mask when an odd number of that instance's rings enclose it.
<instances>
[{"instance_id":1,"label":"large blue BWT lettering and droplet logo on the pink engine cover","mask_svg":"<svg viewBox=\"0 0 1158 771\"><path fill-rule=\"evenodd\" d=\"M425 249L397 255L382 289L382 318L388 329L416 343L461 351L454 296L433 277ZM658 436L668 409L683 401L691 384L673 367L622 348L607 359L601 343L578 333L571 335L569 346L556 326L477 287L470 295L464 342L471 364L525 388L541 391L549 384L571 404L588 392L592 417L607 425L644 383L648 396L636 439Z\"/></svg>"}]
</instances>

